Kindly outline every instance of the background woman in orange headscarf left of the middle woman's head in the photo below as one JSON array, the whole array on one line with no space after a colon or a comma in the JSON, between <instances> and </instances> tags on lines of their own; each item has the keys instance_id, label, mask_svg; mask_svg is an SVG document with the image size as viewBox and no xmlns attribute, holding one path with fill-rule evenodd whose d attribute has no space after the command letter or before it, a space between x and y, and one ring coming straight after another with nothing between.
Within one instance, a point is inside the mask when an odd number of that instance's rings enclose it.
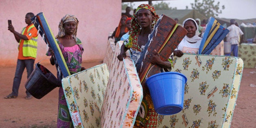
<instances>
[{"instance_id":1,"label":"background woman in orange headscarf left of the middle woman's head","mask_svg":"<svg viewBox=\"0 0 256 128\"><path fill-rule=\"evenodd\" d=\"M115 31L113 32L112 35L108 37L113 38L115 37L115 44L120 41L122 35L128 32L128 28L126 27L125 21L128 17L126 15L121 16L121 19L119 21L118 26L115 28Z\"/></svg>"}]
</instances>

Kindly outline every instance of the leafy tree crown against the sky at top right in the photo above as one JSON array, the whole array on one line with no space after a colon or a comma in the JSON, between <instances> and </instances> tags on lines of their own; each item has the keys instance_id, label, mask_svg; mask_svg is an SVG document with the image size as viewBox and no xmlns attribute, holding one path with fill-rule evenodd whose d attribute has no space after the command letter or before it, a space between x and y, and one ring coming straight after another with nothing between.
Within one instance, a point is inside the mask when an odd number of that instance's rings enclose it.
<instances>
[{"instance_id":1,"label":"leafy tree crown against the sky at top right","mask_svg":"<svg viewBox=\"0 0 256 128\"><path fill-rule=\"evenodd\" d=\"M207 18L218 17L218 14L221 14L222 10L225 9L224 5L222 5L220 8L220 2L214 4L214 0L202 0L202 2L195 0L194 3L190 4L192 9L198 11L201 14L204 14ZM186 9L188 9L188 6L186 6Z\"/></svg>"}]
</instances>

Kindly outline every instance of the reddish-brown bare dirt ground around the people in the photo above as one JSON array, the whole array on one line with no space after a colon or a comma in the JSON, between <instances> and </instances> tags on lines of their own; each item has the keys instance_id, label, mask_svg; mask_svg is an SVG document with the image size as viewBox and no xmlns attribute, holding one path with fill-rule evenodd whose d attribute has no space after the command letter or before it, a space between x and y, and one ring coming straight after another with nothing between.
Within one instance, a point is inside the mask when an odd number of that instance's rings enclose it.
<instances>
[{"instance_id":1,"label":"reddish-brown bare dirt ground around the people","mask_svg":"<svg viewBox=\"0 0 256 128\"><path fill-rule=\"evenodd\" d=\"M90 68L101 64L83 63ZM55 66L42 64L56 75ZM26 70L23 73L19 95L4 99L11 93L15 66L0 67L0 128L55 128L57 126L58 89L55 88L42 99L24 99ZM256 68L244 68L238 99L234 109L231 128L255 128L256 126ZM251 86L250 86L251 85Z\"/></svg>"}]
</instances>

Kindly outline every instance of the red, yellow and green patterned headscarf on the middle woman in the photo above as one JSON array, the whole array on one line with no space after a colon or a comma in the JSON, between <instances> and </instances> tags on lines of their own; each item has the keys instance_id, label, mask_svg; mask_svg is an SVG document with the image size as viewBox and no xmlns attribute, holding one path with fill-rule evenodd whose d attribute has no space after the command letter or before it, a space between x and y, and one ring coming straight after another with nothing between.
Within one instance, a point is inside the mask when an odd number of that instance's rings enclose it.
<instances>
[{"instance_id":1,"label":"red, yellow and green patterned headscarf on the middle woman","mask_svg":"<svg viewBox=\"0 0 256 128\"><path fill-rule=\"evenodd\" d=\"M137 22L137 12L140 9L148 9L149 11L151 11L153 13L153 17L152 17L152 24L151 27L152 29L154 28L154 24L157 22L157 20L159 19L159 16L156 13L156 10L154 9L154 7L152 7L149 4L141 4L138 6L138 8L136 9L135 13L132 15L132 29L129 31L129 42L126 44L126 47L128 49L130 49L131 47L133 47L133 49L136 49L137 51L141 51L141 49L139 48L138 44L137 44L137 40L138 40L138 35L141 31L141 26L139 26L139 23Z\"/></svg>"}]
</instances>

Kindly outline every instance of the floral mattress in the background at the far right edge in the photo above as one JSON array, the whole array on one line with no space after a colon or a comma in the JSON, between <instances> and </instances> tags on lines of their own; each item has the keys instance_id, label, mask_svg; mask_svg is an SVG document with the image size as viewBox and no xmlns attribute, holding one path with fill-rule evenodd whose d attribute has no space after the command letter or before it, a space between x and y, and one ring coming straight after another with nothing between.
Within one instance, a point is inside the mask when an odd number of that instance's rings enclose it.
<instances>
[{"instance_id":1,"label":"floral mattress in the background at the far right edge","mask_svg":"<svg viewBox=\"0 0 256 128\"><path fill-rule=\"evenodd\" d=\"M256 44L241 44L238 47L238 57L241 57L245 68L256 68Z\"/></svg>"}]
</instances>

